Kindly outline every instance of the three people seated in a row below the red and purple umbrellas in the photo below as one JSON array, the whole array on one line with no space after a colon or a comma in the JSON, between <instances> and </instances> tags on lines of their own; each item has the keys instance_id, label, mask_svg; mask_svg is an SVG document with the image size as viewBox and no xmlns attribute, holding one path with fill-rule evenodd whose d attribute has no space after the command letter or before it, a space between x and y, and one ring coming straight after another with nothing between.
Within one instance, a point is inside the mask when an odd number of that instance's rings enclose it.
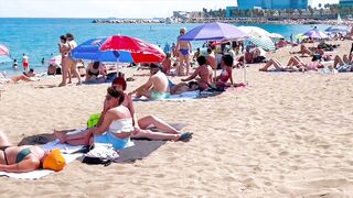
<instances>
[{"instance_id":1,"label":"three people seated in a row below the red and purple umbrellas","mask_svg":"<svg viewBox=\"0 0 353 198\"><path fill-rule=\"evenodd\" d=\"M151 100L169 98L170 95L180 95L185 91L207 90L208 88L226 88L233 85L233 57L224 55L222 57L222 73L214 76L214 69L207 64L205 56L197 57L197 65L194 72L186 78L182 78L180 84L173 84L158 64L150 64L149 79L132 90L130 95L136 98L146 97Z\"/></svg>"}]
</instances>

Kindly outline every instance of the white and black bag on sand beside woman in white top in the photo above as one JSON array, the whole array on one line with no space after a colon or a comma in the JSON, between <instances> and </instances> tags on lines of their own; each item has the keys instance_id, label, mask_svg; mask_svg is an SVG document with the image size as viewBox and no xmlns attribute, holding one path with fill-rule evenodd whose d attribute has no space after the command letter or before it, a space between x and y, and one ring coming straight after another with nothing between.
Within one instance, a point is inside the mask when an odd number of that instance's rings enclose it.
<instances>
[{"instance_id":1,"label":"white and black bag on sand beside woman in white top","mask_svg":"<svg viewBox=\"0 0 353 198\"><path fill-rule=\"evenodd\" d=\"M93 150L85 154L83 163L109 166L111 162L119 157L118 151L114 150L111 144L95 143Z\"/></svg>"}]
</instances>

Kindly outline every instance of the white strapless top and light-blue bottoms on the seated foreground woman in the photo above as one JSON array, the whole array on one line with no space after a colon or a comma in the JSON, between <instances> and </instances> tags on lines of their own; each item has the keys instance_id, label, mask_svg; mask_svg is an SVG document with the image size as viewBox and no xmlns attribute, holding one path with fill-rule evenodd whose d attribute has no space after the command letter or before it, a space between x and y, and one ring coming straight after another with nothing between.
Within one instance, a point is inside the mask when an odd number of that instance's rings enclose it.
<instances>
[{"instance_id":1,"label":"white strapless top and light-blue bottoms on the seated foreground woman","mask_svg":"<svg viewBox=\"0 0 353 198\"><path fill-rule=\"evenodd\" d=\"M130 136L126 139L119 139L115 134L129 133L132 131L135 131L135 129L132 127L131 118L115 120L110 123L109 130L107 132L94 136L94 142L111 144L115 150L122 150L125 147L132 146L133 142L131 142Z\"/></svg>"}]
</instances>

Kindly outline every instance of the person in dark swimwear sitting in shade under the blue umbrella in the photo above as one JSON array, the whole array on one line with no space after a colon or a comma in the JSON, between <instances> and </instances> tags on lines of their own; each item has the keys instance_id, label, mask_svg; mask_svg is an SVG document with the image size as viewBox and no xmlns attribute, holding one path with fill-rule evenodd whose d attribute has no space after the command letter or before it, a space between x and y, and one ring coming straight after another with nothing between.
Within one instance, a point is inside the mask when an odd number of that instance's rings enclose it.
<instances>
[{"instance_id":1,"label":"person in dark swimwear sitting in shade under the blue umbrella","mask_svg":"<svg viewBox=\"0 0 353 198\"><path fill-rule=\"evenodd\" d=\"M103 75L103 76L99 76ZM106 70L103 69L100 62L92 62L86 70L86 82L104 82L106 80Z\"/></svg>"}]
</instances>

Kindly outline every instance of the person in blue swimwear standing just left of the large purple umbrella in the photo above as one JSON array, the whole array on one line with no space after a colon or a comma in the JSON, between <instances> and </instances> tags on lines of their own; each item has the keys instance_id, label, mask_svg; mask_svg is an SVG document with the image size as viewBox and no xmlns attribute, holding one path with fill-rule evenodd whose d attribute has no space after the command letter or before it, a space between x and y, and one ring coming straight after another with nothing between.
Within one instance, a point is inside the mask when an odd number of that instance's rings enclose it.
<instances>
[{"instance_id":1,"label":"person in blue swimwear standing just left of the large purple umbrella","mask_svg":"<svg viewBox=\"0 0 353 198\"><path fill-rule=\"evenodd\" d=\"M180 29L180 35L178 36L178 43L176 43L176 51L179 53L179 75L182 75L181 68L186 65L186 76L189 76L190 70L190 54L192 53L192 47L190 42L180 41L180 36L184 35L186 32L186 29Z\"/></svg>"}]
</instances>

